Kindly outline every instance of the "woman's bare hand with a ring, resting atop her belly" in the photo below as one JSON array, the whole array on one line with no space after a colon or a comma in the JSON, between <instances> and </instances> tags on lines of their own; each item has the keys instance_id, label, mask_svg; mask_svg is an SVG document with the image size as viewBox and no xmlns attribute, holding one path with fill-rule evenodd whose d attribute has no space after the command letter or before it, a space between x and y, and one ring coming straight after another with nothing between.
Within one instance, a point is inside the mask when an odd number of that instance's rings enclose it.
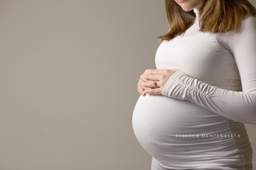
<instances>
[{"instance_id":1,"label":"woman's bare hand with a ring, resting atop her belly","mask_svg":"<svg viewBox=\"0 0 256 170\"><path fill-rule=\"evenodd\" d=\"M171 69L146 69L139 78L139 94L161 94L164 85L175 72Z\"/></svg>"}]
</instances>

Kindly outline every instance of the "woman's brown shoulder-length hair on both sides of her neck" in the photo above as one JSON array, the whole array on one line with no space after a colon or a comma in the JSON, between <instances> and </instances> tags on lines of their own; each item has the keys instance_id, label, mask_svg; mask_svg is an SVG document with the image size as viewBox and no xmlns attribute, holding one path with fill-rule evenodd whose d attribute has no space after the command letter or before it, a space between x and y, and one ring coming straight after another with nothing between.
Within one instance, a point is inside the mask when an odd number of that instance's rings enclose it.
<instances>
[{"instance_id":1,"label":"woman's brown shoulder-length hair on both sides of her neck","mask_svg":"<svg viewBox=\"0 0 256 170\"><path fill-rule=\"evenodd\" d=\"M165 0L169 31L161 40L171 40L184 33L196 18L193 11L183 11L174 0ZM242 19L256 16L256 9L247 0L201 0L198 9L202 32L225 33L238 28Z\"/></svg>"}]
</instances>

